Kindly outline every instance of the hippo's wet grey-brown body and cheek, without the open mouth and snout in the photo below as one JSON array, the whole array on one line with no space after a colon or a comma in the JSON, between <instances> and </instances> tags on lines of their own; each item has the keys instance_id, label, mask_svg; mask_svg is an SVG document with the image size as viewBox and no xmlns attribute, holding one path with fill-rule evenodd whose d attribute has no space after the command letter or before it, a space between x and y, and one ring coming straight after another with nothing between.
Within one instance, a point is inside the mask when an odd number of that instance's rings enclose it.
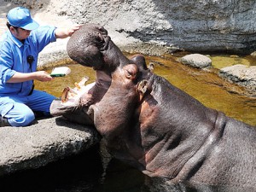
<instances>
[{"instance_id":1,"label":"hippo's wet grey-brown body and cheek, without the open mouth and snout","mask_svg":"<svg viewBox=\"0 0 256 192\"><path fill-rule=\"evenodd\" d=\"M255 127L206 108L149 70L128 79L127 69L116 70L102 101L90 106L111 154L172 183L256 189Z\"/></svg>"}]
</instances>

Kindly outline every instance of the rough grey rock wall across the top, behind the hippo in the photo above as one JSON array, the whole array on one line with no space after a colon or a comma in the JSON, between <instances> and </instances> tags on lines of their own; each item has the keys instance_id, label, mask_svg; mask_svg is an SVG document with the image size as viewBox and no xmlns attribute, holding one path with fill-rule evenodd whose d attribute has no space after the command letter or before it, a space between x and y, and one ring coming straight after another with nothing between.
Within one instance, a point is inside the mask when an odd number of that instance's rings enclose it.
<instances>
[{"instance_id":1,"label":"rough grey rock wall across the top, behind the hippo","mask_svg":"<svg viewBox=\"0 0 256 192\"><path fill-rule=\"evenodd\" d=\"M113 33L117 44L150 42L189 51L238 53L253 52L256 47L254 0L11 2L67 16L77 23L99 23Z\"/></svg>"}]
</instances>

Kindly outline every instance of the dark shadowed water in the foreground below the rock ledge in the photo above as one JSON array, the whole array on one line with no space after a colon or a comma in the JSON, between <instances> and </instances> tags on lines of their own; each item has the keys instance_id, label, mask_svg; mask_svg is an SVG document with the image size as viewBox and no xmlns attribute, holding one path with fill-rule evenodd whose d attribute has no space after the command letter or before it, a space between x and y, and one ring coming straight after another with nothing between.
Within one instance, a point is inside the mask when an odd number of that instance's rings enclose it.
<instances>
[{"instance_id":1,"label":"dark shadowed water in the foreground below the rock ledge","mask_svg":"<svg viewBox=\"0 0 256 192\"><path fill-rule=\"evenodd\" d=\"M119 160L103 166L105 156L96 145L82 154L50 163L37 170L0 177L2 192L253 192L236 186L178 183L147 177ZM108 157L107 157L108 159Z\"/></svg>"}]
</instances>

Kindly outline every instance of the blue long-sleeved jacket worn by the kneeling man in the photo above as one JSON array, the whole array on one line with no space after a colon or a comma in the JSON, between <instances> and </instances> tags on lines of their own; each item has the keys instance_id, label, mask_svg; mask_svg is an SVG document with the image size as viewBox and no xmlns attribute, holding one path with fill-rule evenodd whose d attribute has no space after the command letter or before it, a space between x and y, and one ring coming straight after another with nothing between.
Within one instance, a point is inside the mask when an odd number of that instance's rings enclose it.
<instances>
[{"instance_id":1,"label":"blue long-sleeved jacket worn by the kneeling man","mask_svg":"<svg viewBox=\"0 0 256 192\"><path fill-rule=\"evenodd\" d=\"M27 96L32 90L33 81L23 83L6 83L15 72L31 73L37 71L38 54L44 47L55 42L54 26L39 26L33 30L24 44L15 38L11 32L5 32L0 39L0 96ZM32 65L27 62L27 56L32 55Z\"/></svg>"}]
</instances>

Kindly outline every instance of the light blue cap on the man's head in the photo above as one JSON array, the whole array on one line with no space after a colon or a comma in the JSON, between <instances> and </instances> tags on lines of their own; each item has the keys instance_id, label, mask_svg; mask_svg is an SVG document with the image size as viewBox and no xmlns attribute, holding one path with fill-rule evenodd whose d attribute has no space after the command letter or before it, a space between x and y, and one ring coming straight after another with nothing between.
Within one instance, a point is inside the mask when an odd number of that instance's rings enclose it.
<instances>
[{"instance_id":1,"label":"light blue cap on the man's head","mask_svg":"<svg viewBox=\"0 0 256 192\"><path fill-rule=\"evenodd\" d=\"M11 26L19 26L26 30L33 30L39 26L38 22L32 20L30 11L23 7L10 9L6 17Z\"/></svg>"}]
</instances>

